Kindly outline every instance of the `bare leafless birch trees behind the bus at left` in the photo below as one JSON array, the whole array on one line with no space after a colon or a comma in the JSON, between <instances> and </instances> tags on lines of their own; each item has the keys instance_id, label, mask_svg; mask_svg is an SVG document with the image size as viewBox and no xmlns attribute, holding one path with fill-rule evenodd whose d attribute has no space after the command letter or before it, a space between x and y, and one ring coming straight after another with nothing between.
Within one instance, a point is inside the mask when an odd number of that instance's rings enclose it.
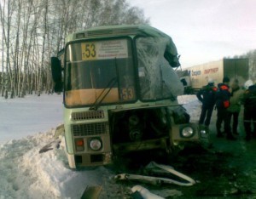
<instances>
[{"instance_id":1,"label":"bare leafless birch trees behind the bus at left","mask_svg":"<svg viewBox=\"0 0 256 199\"><path fill-rule=\"evenodd\" d=\"M2 0L1 95L51 93L50 57L73 31L148 22L143 10L126 0Z\"/></svg>"}]
</instances>

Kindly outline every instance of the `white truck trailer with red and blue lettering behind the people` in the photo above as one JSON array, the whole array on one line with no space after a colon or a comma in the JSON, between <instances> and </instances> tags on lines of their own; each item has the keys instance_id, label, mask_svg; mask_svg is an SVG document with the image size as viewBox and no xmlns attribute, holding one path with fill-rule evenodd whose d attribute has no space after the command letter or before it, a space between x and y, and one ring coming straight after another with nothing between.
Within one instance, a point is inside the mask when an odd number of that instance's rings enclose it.
<instances>
[{"instance_id":1,"label":"white truck trailer with red and blue lettering behind the people","mask_svg":"<svg viewBox=\"0 0 256 199\"><path fill-rule=\"evenodd\" d=\"M183 70L183 72L178 72L181 81L187 83L187 85L184 85L186 93L201 89L207 85L209 78L212 78L215 85L217 85L219 82L222 82L223 77L229 77L230 82L237 79L240 86L242 86L249 77L248 73L249 65L247 58L212 61L191 66Z\"/></svg>"}]
</instances>

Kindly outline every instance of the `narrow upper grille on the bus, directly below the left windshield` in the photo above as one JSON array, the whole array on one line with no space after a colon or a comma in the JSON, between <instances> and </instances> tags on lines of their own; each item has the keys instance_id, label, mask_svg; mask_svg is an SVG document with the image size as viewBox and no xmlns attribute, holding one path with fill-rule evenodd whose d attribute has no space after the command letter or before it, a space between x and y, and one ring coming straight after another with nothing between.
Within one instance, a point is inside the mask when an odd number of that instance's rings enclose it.
<instances>
[{"instance_id":1,"label":"narrow upper grille on the bus, directly below the left windshield","mask_svg":"<svg viewBox=\"0 0 256 199\"><path fill-rule=\"evenodd\" d=\"M90 120L90 119L101 119L104 118L104 111L83 111L83 112L73 112L71 118L74 121L79 120Z\"/></svg>"}]
</instances>

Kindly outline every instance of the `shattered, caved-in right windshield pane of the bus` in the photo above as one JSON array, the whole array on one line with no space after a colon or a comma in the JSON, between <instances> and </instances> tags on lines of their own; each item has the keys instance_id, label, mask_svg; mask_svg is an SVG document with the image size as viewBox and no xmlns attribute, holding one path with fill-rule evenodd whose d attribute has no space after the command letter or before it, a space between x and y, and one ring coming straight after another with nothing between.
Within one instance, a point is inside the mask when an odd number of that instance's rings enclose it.
<instances>
[{"instance_id":1,"label":"shattered, caved-in right windshield pane of the bus","mask_svg":"<svg viewBox=\"0 0 256 199\"><path fill-rule=\"evenodd\" d=\"M183 85L165 59L165 37L138 37L137 62L140 99L173 99L183 94Z\"/></svg>"}]
</instances>

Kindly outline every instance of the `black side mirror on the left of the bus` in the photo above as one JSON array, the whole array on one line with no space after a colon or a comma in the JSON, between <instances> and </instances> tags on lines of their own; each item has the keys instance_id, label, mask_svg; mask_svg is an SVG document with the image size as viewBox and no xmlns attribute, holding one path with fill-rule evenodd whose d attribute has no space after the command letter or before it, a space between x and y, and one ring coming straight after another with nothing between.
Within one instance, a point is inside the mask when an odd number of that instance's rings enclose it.
<instances>
[{"instance_id":1,"label":"black side mirror on the left of the bus","mask_svg":"<svg viewBox=\"0 0 256 199\"><path fill-rule=\"evenodd\" d=\"M60 93L62 91L61 61L57 57L51 57L50 66L51 75L55 82L55 93Z\"/></svg>"}]
</instances>

